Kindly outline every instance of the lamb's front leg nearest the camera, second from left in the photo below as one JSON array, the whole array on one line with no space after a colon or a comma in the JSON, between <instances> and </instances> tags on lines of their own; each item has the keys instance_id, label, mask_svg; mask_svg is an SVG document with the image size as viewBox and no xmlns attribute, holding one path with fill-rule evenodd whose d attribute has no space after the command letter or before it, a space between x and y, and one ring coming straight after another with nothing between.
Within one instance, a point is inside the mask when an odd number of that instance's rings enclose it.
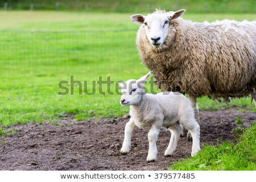
<instances>
[{"instance_id":1,"label":"lamb's front leg nearest the camera, second from left","mask_svg":"<svg viewBox=\"0 0 256 182\"><path fill-rule=\"evenodd\" d=\"M156 141L158 140L158 134L160 131L160 127L156 127L155 125L151 126L150 131L148 132L148 155L147 162L154 162L158 155L158 148L156 147Z\"/></svg>"}]
</instances>

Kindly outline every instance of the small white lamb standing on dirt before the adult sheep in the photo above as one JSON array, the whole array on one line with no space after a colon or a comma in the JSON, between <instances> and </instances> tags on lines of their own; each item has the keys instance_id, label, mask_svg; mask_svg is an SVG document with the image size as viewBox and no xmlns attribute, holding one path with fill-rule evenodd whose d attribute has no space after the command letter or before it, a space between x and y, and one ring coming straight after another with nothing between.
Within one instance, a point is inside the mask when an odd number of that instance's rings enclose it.
<instances>
[{"instance_id":1,"label":"small white lamb standing on dirt before the adult sheep","mask_svg":"<svg viewBox=\"0 0 256 182\"><path fill-rule=\"evenodd\" d=\"M130 121L125 126L125 138L121 148L121 154L130 151L131 135L134 127L149 129L149 149L147 162L154 162L158 150L156 140L161 127L171 131L170 143L165 156L174 154L180 137L182 124L188 129L193 138L191 156L200 150L200 126L196 122L195 114L188 99L181 93L163 92L159 94L145 94L144 83L150 76L150 72L139 80L119 82L122 89L121 105L130 106Z\"/></svg>"}]
</instances>

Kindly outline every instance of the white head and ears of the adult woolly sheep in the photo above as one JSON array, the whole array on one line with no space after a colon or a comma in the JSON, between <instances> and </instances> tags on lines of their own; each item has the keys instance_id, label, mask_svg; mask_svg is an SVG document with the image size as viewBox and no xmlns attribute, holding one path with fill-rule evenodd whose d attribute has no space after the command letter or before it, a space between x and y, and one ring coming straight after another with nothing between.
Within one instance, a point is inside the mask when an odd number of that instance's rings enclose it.
<instances>
[{"instance_id":1,"label":"white head and ears of the adult woolly sheep","mask_svg":"<svg viewBox=\"0 0 256 182\"><path fill-rule=\"evenodd\" d=\"M183 15L185 10L166 12L163 10L156 10L152 14L143 16L141 14L132 15L130 18L137 24L141 24L146 32L148 42L154 47L158 48L163 45L167 38L168 30L171 21Z\"/></svg>"}]
</instances>

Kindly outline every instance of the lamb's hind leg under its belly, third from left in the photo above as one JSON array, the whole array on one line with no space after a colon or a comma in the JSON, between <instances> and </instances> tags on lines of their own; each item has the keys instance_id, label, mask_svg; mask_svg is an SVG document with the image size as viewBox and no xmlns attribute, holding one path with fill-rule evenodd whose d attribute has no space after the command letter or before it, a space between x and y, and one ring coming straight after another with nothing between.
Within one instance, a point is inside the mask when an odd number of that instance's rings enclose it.
<instances>
[{"instance_id":1,"label":"lamb's hind leg under its belly, third from left","mask_svg":"<svg viewBox=\"0 0 256 182\"><path fill-rule=\"evenodd\" d=\"M178 125L174 125L169 127L169 130L171 131L171 139L170 143L167 147L167 150L164 152L164 156L171 156L176 151L177 142L180 138L181 128Z\"/></svg>"}]
</instances>

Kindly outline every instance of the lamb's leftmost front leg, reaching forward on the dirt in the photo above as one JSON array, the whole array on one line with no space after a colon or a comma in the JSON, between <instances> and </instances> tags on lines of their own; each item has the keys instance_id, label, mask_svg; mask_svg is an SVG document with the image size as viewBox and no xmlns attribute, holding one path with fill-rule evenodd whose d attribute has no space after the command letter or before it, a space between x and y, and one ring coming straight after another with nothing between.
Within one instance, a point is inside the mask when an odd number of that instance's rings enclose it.
<instances>
[{"instance_id":1,"label":"lamb's leftmost front leg, reaching forward on the dirt","mask_svg":"<svg viewBox=\"0 0 256 182\"><path fill-rule=\"evenodd\" d=\"M131 147L131 135L133 134L133 130L135 128L135 124L132 118L125 125L125 138L123 139L123 145L121 148L121 154L125 155L130 152Z\"/></svg>"}]
</instances>

